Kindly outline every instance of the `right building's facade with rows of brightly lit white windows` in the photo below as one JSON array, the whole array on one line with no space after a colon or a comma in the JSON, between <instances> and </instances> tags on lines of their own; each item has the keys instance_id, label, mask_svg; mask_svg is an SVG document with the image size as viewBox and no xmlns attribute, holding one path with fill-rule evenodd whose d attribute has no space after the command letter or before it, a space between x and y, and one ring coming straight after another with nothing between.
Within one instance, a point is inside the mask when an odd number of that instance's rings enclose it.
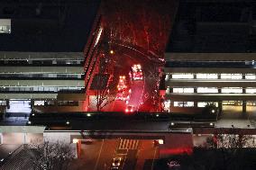
<instances>
[{"instance_id":1,"label":"right building's facade with rows of brightly lit white windows","mask_svg":"<svg viewBox=\"0 0 256 170\"><path fill-rule=\"evenodd\" d=\"M169 112L256 109L255 53L167 53L165 85Z\"/></svg>"}]
</instances>

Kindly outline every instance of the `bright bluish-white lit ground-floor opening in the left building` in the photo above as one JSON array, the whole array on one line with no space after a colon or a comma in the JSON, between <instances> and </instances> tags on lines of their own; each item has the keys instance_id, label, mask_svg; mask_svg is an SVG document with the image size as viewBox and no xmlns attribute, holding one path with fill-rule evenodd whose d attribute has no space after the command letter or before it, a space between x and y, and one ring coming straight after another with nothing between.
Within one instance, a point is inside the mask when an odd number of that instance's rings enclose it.
<instances>
[{"instance_id":1,"label":"bright bluish-white lit ground-floor opening in the left building","mask_svg":"<svg viewBox=\"0 0 256 170\"><path fill-rule=\"evenodd\" d=\"M9 104L10 108L6 110L8 113L30 114L32 112L30 100L10 100Z\"/></svg>"}]
</instances>

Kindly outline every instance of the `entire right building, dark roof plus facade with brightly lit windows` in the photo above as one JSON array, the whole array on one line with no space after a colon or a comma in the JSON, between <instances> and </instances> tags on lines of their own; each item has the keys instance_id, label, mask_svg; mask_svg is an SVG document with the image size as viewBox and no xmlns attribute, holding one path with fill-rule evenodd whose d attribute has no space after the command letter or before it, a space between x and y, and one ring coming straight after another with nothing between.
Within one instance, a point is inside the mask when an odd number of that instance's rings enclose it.
<instances>
[{"instance_id":1,"label":"entire right building, dark roof plus facade with brightly lit windows","mask_svg":"<svg viewBox=\"0 0 256 170\"><path fill-rule=\"evenodd\" d=\"M253 112L255 4L181 1L165 54L166 110Z\"/></svg>"}]
</instances>

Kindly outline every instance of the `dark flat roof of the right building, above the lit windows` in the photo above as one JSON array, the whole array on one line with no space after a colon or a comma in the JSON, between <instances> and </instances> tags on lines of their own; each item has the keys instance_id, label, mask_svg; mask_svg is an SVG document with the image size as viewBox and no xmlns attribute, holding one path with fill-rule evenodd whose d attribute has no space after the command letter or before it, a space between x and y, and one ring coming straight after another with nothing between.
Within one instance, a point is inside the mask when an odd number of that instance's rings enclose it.
<instances>
[{"instance_id":1,"label":"dark flat roof of the right building, above the lit windows","mask_svg":"<svg viewBox=\"0 0 256 170\"><path fill-rule=\"evenodd\" d=\"M255 1L181 0L166 51L256 52L255 21Z\"/></svg>"}]
</instances>

